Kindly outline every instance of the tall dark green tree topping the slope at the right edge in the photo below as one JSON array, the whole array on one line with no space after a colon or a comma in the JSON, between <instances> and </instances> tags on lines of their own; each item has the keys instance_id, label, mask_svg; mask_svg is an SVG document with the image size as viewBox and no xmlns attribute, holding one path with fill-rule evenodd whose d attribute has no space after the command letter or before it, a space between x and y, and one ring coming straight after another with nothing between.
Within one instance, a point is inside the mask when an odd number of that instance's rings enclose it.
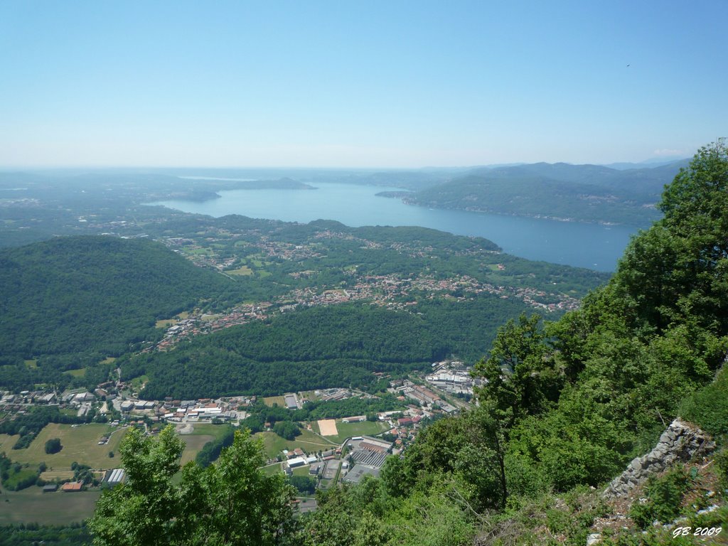
<instances>
[{"instance_id":1,"label":"tall dark green tree topping the slope at the right edge","mask_svg":"<svg viewBox=\"0 0 728 546\"><path fill-rule=\"evenodd\" d=\"M614 282L638 317L662 331L692 314L714 333L728 332L728 146L703 146L665 186L665 218L636 237Z\"/></svg>"}]
</instances>

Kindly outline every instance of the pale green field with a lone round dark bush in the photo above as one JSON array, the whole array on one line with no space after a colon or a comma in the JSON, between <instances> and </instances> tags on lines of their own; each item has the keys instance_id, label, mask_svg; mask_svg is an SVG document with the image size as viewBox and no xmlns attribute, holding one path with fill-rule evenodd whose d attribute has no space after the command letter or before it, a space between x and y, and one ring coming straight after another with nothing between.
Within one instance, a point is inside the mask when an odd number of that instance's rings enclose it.
<instances>
[{"instance_id":1,"label":"pale green field with a lone round dark bush","mask_svg":"<svg viewBox=\"0 0 728 546\"><path fill-rule=\"evenodd\" d=\"M70 424L50 423L41 430L27 449L5 449L5 452L13 461L31 464L45 462L50 470L69 469L74 461L88 464L95 469L108 470L119 466L119 459L109 457L108 452L116 453L119 442L127 430L114 432L106 445L99 446L98 440L115 429L116 427L108 424L98 423L81 424L77 427ZM45 443L51 438L60 438L61 446L63 446L59 453L53 455L45 452Z\"/></svg>"}]
</instances>

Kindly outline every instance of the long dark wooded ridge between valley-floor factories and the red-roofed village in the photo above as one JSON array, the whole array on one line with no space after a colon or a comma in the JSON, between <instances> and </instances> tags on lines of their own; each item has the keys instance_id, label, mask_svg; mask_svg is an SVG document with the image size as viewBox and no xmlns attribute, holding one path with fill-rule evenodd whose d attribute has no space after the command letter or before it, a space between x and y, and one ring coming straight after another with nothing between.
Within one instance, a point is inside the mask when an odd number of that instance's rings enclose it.
<instances>
[{"instance_id":1,"label":"long dark wooded ridge between valley-floor factories and the red-roofed village","mask_svg":"<svg viewBox=\"0 0 728 546\"><path fill-rule=\"evenodd\" d=\"M149 376L141 392L149 400L365 388L376 380L372 372L424 370L453 354L477 358L492 339L488 330L496 317L518 309L494 296L426 301L411 311L368 304L312 307L118 364L122 379Z\"/></svg>"}]
</instances>

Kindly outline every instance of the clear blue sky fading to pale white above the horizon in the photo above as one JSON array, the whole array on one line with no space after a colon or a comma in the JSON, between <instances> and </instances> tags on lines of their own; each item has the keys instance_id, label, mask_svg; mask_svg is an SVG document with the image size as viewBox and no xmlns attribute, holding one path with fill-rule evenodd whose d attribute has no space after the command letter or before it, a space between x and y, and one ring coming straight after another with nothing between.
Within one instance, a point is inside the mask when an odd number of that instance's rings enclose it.
<instances>
[{"instance_id":1,"label":"clear blue sky fading to pale white above the horizon","mask_svg":"<svg viewBox=\"0 0 728 546\"><path fill-rule=\"evenodd\" d=\"M726 21L726 0L8 0L0 167L689 157L728 136Z\"/></svg>"}]
</instances>

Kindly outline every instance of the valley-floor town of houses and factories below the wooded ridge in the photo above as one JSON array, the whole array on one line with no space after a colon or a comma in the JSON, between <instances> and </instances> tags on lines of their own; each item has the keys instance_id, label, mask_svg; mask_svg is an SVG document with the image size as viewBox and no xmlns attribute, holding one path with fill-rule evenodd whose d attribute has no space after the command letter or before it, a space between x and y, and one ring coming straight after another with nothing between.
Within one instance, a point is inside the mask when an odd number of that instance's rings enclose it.
<instances>
[{"instance_id":1,"label":"valley-floor town of houses and factories below the wooded ridge","mask_svg":"<svg viewBox=\"0 0 728 546\"><path fill-rule=\"evenodd\" d=\"M381 374L379 374L381 376ZM462 362L443 361L433 363L432 370L420 378L391 379L387 392L402 403L397 411L384 411L372 416L358 415L340 419L320 419L301 423L309 440L282 448L276 454L269 453L266 471L283 472L286 475L306 475L312 478L316 488L331 488L336 483L358 483L365 476L379 476L384 461L389 456L400 456L417 437L426 420L438 416L456 414L467 407L464 398L473 394L480 379L470 376L470 369ZM312 398L322 402L336 402L352 397L373 397L348 388L321 389L313 392L291 392L273 402L290 411L304 408ZM198 400L141 400L132 392L132 386L121 381L109 381L98 385L93 392L76 390L55 392L52 390L0 392L1 421L14 419L28 413L33 406L57 406L66 415L79 418L98 416L95 421L106 422L109 432L98 437L98 446L105 446L114 432L127 427L140 427L154 435L167 424L173 424L182 438L194 432L201 424L232 424L237 426L249 416L248 408L259 400L256 396L202 398ZM266 403L269 399L266 399ZM71 427L84 427L73 424ZM376 431L343 434L341 430ZM365 429L362 429L365 430ZM265 433L273 435L272 424L265 423ZM319 443L314 444L310 438ZM293 447L295 446L295 447ZM92 469L98 480L55 480L43 486L44 492L74 492L100 486L114 486L124 481L124 470L119 467ZM301 496L298 509L314 510L313 498Z\"/></svg>"}]
</instances>

